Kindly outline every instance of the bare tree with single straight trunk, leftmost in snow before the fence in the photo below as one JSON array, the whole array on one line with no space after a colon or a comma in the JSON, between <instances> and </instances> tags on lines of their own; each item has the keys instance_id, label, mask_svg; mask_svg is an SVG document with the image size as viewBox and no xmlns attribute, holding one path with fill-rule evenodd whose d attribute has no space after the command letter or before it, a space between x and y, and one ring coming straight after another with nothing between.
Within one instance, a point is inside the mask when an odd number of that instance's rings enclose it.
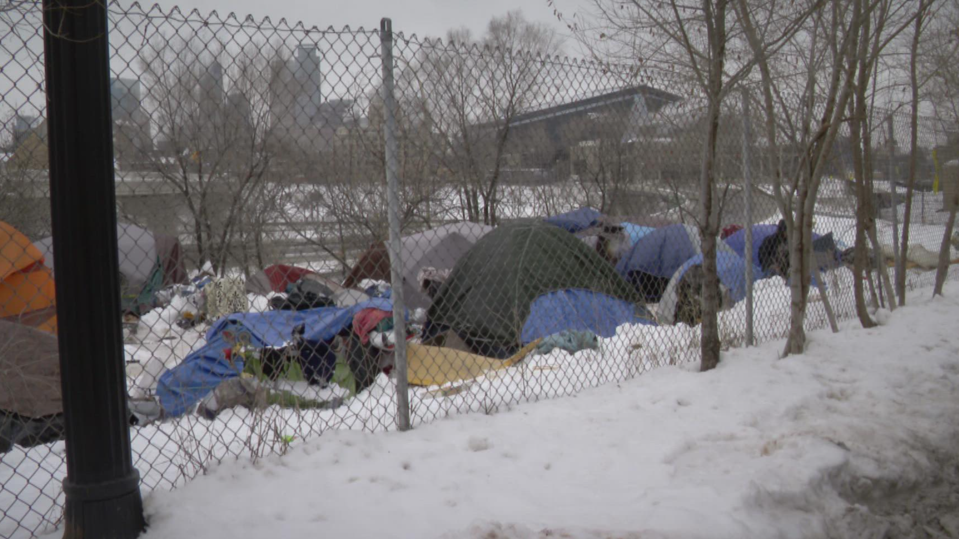
<instances>
[{"instance_id":1,"label":"bare tree with single straight trunk, leftmost in snow before the fence","mask_svg":"<svg viewBox=\"0 0 959 539\"><path fill-rule=\"evenodd\" d=\"M722 208L717 181L718 139L723 100L750 73L757 58L782 47L814 6L790 4L780 12L766 12L769 20L783 17L788 23L771 28L761 42L761 54L749 49L736 25L734 0L703 0L687 4L678 0L595 0L595 28L578 36L598 57L610 55L636 59L653 73L678 70L706 102L701 138L699 212L696 223L702 241L704 282L702 293L701 356L703 370L719 363L719 279L716 241ZM732 53L732 55L730 54ZM742 58L742 57L746 58Z\"/></svg>"}]
</instances>

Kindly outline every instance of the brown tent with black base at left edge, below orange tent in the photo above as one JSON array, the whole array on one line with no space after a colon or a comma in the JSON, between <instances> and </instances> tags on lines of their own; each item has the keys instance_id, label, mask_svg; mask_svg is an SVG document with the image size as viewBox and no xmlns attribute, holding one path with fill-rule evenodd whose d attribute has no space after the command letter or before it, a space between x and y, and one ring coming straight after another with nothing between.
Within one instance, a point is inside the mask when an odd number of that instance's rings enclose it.
<instances>
[{"instance_id":1,"label":"brown tent with black base at left edge, below orange tent","mask_svg":"<svg viewBox=\"0 0 959 539\"><path fill-rule=\"evenodd\" d=\"M57 337L0 320L0 453L63 434Z\"/></svg>"}]
</instances>

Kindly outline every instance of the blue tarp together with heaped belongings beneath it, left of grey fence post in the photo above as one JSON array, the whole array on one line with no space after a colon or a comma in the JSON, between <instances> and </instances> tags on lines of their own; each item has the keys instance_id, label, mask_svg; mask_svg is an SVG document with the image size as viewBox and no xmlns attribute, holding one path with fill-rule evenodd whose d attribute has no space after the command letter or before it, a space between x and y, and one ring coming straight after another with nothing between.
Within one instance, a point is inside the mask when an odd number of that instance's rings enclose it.
<instances>
[{"instance_id":1,"label":"blue tarp together with heaped belongings beneath it, left of grey fence post","mask_svg":"<svg viewBox=\"0 0 959 539\"><path fill-rule=\"evenodd\" d=\"M248 374L261 382L282 378L325 387L336 382L339 367L350 392L362 391L384 370L384 353L393 346L391 316L391 300L380 297L345 308L224 316L207 331L204 346L160 376L157 398L166 415L187 413L224 381L241 377L251 361L258 365ZM257 395L249 384L231 384L228 394Z\"/></svg>"}]
</instances>

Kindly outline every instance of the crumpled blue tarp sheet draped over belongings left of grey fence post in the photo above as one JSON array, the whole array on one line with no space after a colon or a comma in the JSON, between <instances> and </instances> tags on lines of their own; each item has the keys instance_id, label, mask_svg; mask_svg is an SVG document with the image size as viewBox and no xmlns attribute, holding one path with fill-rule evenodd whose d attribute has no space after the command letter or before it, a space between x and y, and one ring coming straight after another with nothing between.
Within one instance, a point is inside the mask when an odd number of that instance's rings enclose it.
<instances>
[{"instance_id":1,"label":"crumpled blue tarp sheet draped over belongings left of grey fence post","mask_svg":"<svg viewBox=\"0 0 959 539\"><path fill-rule=\"evenodd\" d=\"M393 304L389 299L377 297L344 309L323 307L306 311L224 316L207 331L205 345L191 352L183 363L160 376L156 384L160 406L168 415L185 413L223 380L238 376L243 371L242 360L230 363L223 356L223 350L231 347L224 338L224 332L233 332L234 336L248 340L254 348L279 347L289 343L294 327L303 324L303 339L307 342L303 374L307 379L328 380L336 359L326 343L350 327L353 316L363 309L392 311Z\"/></svg>"}]
</instances>

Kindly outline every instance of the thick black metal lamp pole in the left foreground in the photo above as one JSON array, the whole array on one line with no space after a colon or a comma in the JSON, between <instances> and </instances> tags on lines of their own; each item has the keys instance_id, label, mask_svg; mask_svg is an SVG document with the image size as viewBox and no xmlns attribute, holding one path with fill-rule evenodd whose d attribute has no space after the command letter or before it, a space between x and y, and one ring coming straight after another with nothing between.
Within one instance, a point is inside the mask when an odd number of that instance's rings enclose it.
<instances>
[{"instance_id":1,"label":"thick black metal lamp pole in the left foreground","mask_svg":"<svg viewBox=\"0 0 959 539\"><path fill-rule=\"evenodd\" d=\"M102 0L43 0L50 199L66 429L65 538L144 528L130 455L109 49Z\"/></svg>"}]
</instances>

